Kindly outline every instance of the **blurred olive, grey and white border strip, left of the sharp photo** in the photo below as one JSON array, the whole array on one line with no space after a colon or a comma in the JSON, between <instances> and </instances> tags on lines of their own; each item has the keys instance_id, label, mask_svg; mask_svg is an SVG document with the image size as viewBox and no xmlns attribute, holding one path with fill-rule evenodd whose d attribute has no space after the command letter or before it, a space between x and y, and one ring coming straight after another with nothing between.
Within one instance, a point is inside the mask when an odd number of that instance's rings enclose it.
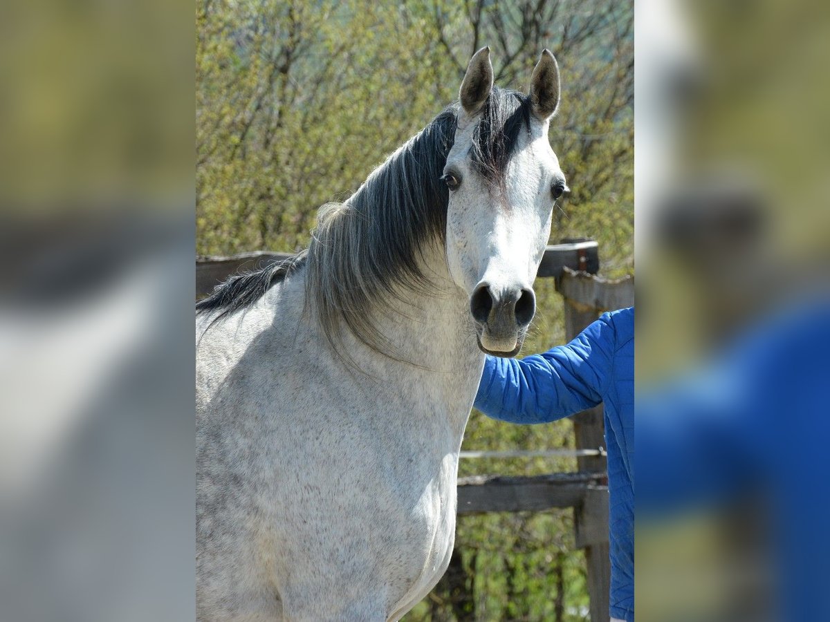
<instances>
[{"instance_id":1,"label":"blurred olive, grey and white border strip, left of the sharp photo","mask_svg":"<svg viewBox=\"0 0 830 622\"><path fill-rule=\"evenodd\" d=\"M2 620L193 619L193 49L0 6Z\"/></svg>"}]
</instances>

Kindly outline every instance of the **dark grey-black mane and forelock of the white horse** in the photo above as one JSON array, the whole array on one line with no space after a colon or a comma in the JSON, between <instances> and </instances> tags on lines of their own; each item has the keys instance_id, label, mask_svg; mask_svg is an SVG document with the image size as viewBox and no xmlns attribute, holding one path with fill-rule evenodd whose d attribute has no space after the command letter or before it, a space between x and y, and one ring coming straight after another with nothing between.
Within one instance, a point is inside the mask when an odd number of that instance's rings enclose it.
<instances>
[{"instance_id":1,"label":"dark grey-black mane and forelock of the white horse","mask_svg":"<svg viewBox=\"0 0 830 622\"><path fill-rule=\"evenodd\" d=\"M306 271L306 304L331 342L341 322L369 347L388 352L373 312L399 288L427 286L425 251L442 246L449 192L441 181L457 127L452 104L369 175L352 197L320 209L308 250L282 264L237 275L196 305L216 321L247 309L295 270ZM530 130L527 96L494 86L481 109L471 158L489 183L503 180L521 129Z\"/></svg>"}]
</instances>

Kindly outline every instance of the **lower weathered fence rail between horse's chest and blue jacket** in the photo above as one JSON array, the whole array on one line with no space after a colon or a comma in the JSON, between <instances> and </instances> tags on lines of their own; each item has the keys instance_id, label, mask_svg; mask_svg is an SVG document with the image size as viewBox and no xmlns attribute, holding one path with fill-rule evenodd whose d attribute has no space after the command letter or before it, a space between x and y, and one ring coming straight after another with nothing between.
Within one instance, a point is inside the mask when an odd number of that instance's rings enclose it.
<instances>
[{"instance_id":1,"label":"lower weathered fence rail between horse's chest and blue jacket","mask_svg":"<svg viewBox=\"0 0 830 622\"><path fill-rule=\"evenodd\" d=\"M556 473L535 477L483 476L458 480L458 513L539 512L576 508L598 474Z\"/></svg>"}]
</instances>

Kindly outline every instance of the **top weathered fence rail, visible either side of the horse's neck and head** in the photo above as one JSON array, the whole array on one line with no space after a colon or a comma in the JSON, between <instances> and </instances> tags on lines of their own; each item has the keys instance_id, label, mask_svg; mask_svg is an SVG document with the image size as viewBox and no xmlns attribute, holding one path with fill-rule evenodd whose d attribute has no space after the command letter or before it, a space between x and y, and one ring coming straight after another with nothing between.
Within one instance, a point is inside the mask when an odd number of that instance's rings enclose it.
<instances>
[{"instance_id":1,"label":"top weathered fence rail, visible either side of the horse's neck and head","mask_svg":"<svg viewBox=\"0 0 830 622\"><path fill-rule=\"evenodd\" d=\"M276 261L291 257L291 253L256 251L229 257L196 258L196 297L203 298L213 291L217 284L242 270L257 270ZM544 251L539 277L558 277L563 270L598 270L599 255L597 242L593 240L548 245Z\"/></svg>"}]
</instances>

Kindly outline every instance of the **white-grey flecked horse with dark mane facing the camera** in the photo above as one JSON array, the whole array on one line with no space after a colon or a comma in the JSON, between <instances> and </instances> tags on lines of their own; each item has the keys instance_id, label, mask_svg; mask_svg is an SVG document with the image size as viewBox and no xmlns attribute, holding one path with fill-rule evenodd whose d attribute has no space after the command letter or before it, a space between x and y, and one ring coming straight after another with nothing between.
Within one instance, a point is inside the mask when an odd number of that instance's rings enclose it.
<instances>
[{"instance_id":1,"label":"white-grey flecked horse with dark mane facing the camera","mask_svg":"<svg viewBox=\"0 0 830 622\"><path fill-rule=\"evenodd\" d=\"M483 352L535 313L558 104L549 51L525 96L481 49L307 251L198 305L199 620L398 620L442 576Z\"/></svg>"}]
</instances>

